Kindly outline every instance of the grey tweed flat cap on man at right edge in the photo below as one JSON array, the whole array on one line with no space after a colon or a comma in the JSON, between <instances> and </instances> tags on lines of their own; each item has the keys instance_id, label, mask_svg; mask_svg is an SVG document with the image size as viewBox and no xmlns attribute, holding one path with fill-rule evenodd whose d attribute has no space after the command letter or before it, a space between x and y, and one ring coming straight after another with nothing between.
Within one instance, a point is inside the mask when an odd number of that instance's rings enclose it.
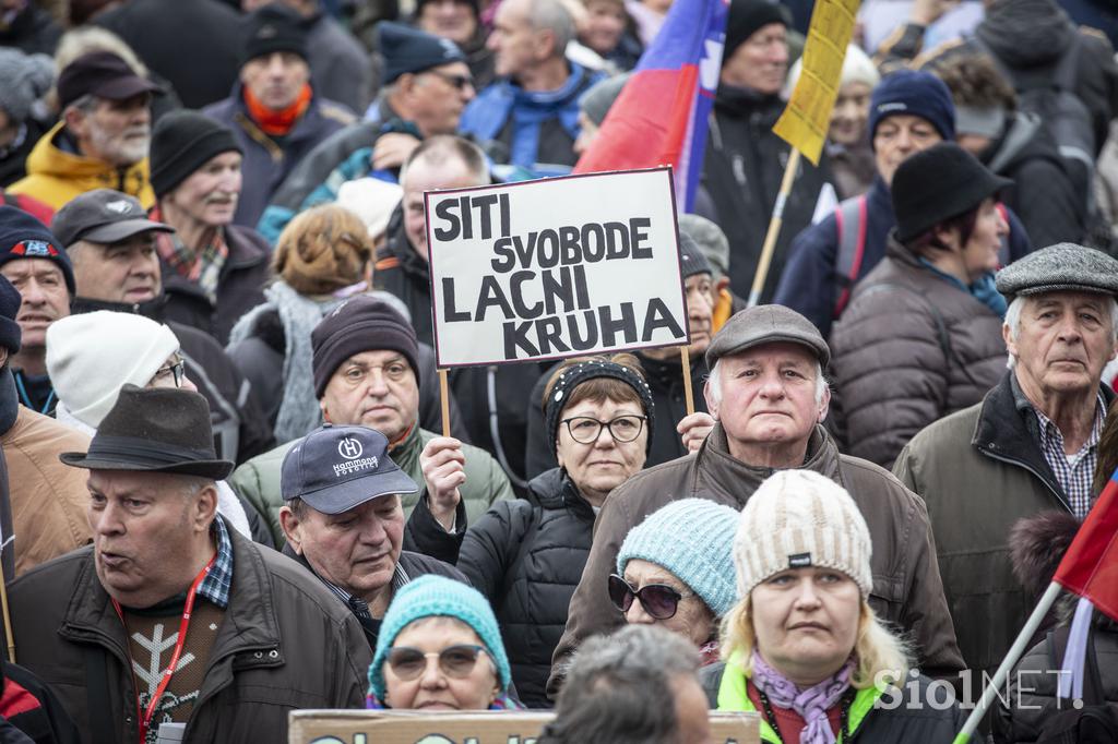
<instances>
[{"instance_id":1,"label":"grey tweed flat cap on man at right edge","mask_svg":"<svg viewBox=\"0 0 1118 744\"><path fill-rule=\"evenodd\" d=\"M995 286L1011 301L1065 290L1118 295L1118 260L1095 248L1059 242L1006 266L997 273Z\"/></svg>"}]
</instances>

